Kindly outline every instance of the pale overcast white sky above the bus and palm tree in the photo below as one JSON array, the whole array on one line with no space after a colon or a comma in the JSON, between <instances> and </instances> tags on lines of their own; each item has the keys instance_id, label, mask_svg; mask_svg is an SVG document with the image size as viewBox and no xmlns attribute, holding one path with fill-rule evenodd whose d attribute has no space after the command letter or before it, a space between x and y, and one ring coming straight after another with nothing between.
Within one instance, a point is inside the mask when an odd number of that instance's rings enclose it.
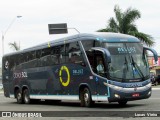
<instances>
[{"instance_id":1,"label":"pale overcast white sky above the bus and palm tree","mask_svg":"<svg viewBox=\"0 0 160 120\"><path fill-rule=\"evenodd\" d=\"M48 24L67 23L68 28L76 28L81 33L105 28L109 18L115 16L115 5L122 11L129 7L140 11L141 18L135 24L140 32L154 38L153 48L160 54L160 0L0 0L0 4L0 35L2 38L6 33L5 54L13 52L8 44L14 41L25 49L77 34L69 29L68 34L49 35Z\"/></svg>"}]
</instances>

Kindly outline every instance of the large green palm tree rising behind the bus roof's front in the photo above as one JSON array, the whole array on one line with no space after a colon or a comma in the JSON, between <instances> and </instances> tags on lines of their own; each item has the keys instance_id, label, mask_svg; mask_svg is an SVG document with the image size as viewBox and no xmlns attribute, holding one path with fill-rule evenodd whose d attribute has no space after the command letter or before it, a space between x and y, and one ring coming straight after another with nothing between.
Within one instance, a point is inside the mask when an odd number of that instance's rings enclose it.
<instances>
[{"instance_id":1,"label":"large green palm tree rising behind the bus roof's front","mask_svg":"<svg viewBox=\"0 0 160 120\"><path fill-rule=\"evenodd\" d=\"M153 38L145 33L139 32L135 20L141 17L138 10L128 8L125 12L119 8L119 6L114 7L115 19L111 17L108 21L108 26L104 29L98 30L98 32L116 32L129 34L139 38L147 46L153 46Z\"/></svg>"}]
</instances>

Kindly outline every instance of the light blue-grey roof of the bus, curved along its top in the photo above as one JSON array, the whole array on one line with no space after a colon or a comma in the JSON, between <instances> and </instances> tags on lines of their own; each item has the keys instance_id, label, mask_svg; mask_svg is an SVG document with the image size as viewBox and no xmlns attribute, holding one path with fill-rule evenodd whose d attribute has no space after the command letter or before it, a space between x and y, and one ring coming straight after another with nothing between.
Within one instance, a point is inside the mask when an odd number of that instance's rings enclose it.
<instances>
[{"instance_id":1,"label":"light blue-grey roof of the bus, curved along its top","mask_svg":"<svg viewBox=\"0 0 160 120\"><path fill-rule=\"evenodd\" d=\"M68 41L77 41L81 38L81 40L85 40L85 38L88 39L94 39L94 40L99 40L103 42L140 42L140 40L134 36L131 35L126 35L126 34L121 34L121 33L110 33L110 32L95 32L95 33L80 33L76 35L72 35L69 37L64 37L56 40L52 40L37 46L33 46L27 49L23 49L14 53L9 53L4 56L9 56L9 55L14 55L14 54L21 54L33 50L38 50L38 49L43 49L48 47L48 43L53 46L53 45L59 45Z\"/></svg>"}]
</instances>

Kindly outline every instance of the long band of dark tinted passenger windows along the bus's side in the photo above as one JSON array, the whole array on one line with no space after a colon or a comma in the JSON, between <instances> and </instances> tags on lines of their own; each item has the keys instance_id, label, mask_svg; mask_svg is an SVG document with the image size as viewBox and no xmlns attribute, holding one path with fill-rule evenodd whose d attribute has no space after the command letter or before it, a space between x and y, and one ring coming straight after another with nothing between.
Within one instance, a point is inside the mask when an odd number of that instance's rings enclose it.
<instances>
[{"instance_id":1,"label":"long band of dark tinted passenger windows along the bus's side","mask_svg":"<svg viewBox=\"0 0 160 120\"><path fill-rule=\"evenodd\" d=\"M78 42L13 55L11 61L12 69L27 69L63 63L84 64Z\"/></svg>"}]
</instances>

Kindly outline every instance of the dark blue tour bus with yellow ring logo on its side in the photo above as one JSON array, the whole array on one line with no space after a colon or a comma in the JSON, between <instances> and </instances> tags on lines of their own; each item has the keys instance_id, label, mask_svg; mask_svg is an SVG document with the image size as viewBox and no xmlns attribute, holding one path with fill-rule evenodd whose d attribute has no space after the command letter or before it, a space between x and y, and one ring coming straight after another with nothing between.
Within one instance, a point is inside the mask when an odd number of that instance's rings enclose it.
<instances>
[{"instance_id":1,"label":"dark blue tour bus with yellow ring logo on its side","mask_svg":"<svg viewBox=\"0 0 160 120\"><path fill-rule=\"evenodd\" d=\"M155 50L120 33L80 33L3 56L4 96L35 100L118 102L151 96L147 53Z\"/></svg>"}]
</instances>

